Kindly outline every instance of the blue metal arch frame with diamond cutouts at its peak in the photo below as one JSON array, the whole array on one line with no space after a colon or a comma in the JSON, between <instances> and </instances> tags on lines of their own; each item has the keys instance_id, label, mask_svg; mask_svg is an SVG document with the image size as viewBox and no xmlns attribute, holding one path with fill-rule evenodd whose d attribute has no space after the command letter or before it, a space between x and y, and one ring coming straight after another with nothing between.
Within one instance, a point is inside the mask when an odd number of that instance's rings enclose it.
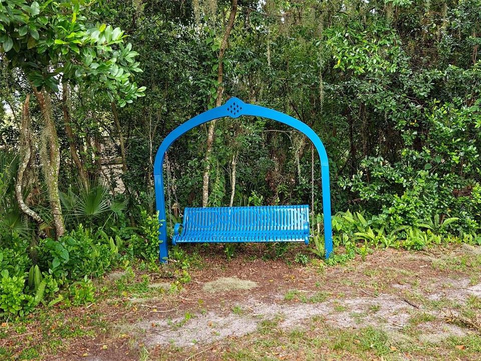
<instances>
[{"instance_id":1,"label":"blue metal arch frame with diamond cutouts at its peak","mask_svg":"<svg viewBox=\"0 0 481 361\"><path fill-rule=\"evenodd\" d=\"M224 105L207 110L179 125L165 137L160 144L159 149L157 150L154 162L154 185L157 211L159 212L160 261L166 262L168 258L164 180L162 175L165 153L178 137L188 132L190 129L213 119L227 116L231 118L238 118L241 115L258 116L287 124L304 133L313 142L321 160L324 247L326 250L326 258L328 258L329 254L332 252L331 191L329 184L329 162L327 159L326 149L324 148L324 144L322 143L321 139L307 124L296 118L273 109L265 108L263 106L244 103L238 98L230 98Z\"/></svg>"}]
</instances>

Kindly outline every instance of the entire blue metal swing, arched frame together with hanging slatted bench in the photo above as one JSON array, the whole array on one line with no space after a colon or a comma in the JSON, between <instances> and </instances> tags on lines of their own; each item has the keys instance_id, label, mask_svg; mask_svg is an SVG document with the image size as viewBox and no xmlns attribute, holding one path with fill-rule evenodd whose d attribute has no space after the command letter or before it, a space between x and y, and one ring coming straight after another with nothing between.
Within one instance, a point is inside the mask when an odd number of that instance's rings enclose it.
<instances>
[{"instance_id":1,"label":"entire blue metal swing, arched frame together with hanging slatted bench","mask_svg":"<svg viewBox=\"0 0 481 361\"><path fill-rule=\"evenodd\" d=\"M287 114L230 98L224 105L209 109L180 124L162 141L154 162L154 185L159 214L159 259L167 262L167 222L163 163L170 145L190 129L222 117L248 115L268 118L289 125L306 135L319 153L324 214L326 258L332 252L331 195L329 162L321 139L307 124ZM182 230L181 230L182 229ZM172 243L187 242L309 242L308 206L186 208L182 224L175 225Z\"/></svg>"}]
</instances>

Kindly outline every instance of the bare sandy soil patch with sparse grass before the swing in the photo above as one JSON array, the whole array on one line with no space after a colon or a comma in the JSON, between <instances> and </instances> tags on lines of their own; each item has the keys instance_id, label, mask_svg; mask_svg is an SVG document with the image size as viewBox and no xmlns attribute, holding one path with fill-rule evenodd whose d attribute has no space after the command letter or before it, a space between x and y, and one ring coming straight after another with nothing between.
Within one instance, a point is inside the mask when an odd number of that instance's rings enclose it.
<instances>
[{"instance_id":1,"label":"bare sandy soil patch with sparse grass before the swing","mask_svg":"<svg viewBox=\"0 0 481 361\"><path fill-rule=\"evenodd\" d=\"M289 253L298 250L303 247ZM322 327L348 331L372 327L396 342L419 345L442 344L451 336L476 333L449 322L446 315L459 313L468 299L481 298L481 281L476 276L481 269L455 261L479 257L477 248L388 249L334 267L322 262L301 266L289 258L263 260L260 256L265 250L258 245L245 246L230 261L218 248L213 251L201 255L202 267L190 271L191 281L180 292L166 291L172 279L150 274L149 288L159 290L155 296L126 294L52 311L63 312L66 319L91 315L84 325L91 332L69 338L65 341L68 347L52 352L44 349L38 359L225 359L222 354L232 342L257 337L266 322L274 322L273 327L282 332L305 330L310 337L322 334ZM121 276L114 275L102 282L109 284ZM34 320L27 332L39 328ZM8 335L0 346L20 351L26 335L14 330ZM35 337L45 343L53 335L52 331ZM329 349L325 351L329 355ZM282 354L286 358L273 359L307 359L295 358L294 351ZM361 359L356 354L343 357Z\"/></svg>"}]
</instances>

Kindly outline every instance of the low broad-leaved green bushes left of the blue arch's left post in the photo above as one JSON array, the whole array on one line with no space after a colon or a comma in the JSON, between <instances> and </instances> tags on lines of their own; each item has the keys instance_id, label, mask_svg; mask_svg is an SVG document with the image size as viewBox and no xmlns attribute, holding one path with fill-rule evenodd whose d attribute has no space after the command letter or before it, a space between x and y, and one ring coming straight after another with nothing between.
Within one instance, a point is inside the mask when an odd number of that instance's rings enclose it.
<instances>
[{"instance_id":1,"label":"low broad-leaved green bushes left of the blue arch's left post","mask_svg":"<svg viewBox=\"0 0 481 361\"><path fill-rule=\"evenodd\" d=\"M125 218L119 215L119 219ZM134 257L149 262L158 259L157 225L155 214L141 211L139 227L112 227L110 235L79 224L59 240L40 239L33 249L25 239L4 230L6 236L0 243L0 317L25 316L41 302L64 306L93 302L95 286L91 278ZM29 251L35 253L35 265Z\"/></svg>"}]
</instances>

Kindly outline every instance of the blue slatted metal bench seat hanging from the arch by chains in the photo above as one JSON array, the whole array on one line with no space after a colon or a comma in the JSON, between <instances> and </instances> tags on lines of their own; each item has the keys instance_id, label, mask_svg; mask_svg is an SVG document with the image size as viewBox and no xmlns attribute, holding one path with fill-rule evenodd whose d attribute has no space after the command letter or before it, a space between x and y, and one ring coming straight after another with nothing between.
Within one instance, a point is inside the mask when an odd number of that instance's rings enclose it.
<instances>
[{"instance_id":1,"label":"blue slatted metal bench seat hanging from the arch by chains","mask_svg":"<svg viewBox=\"0 0 481 361\"><path fill-rule=\"evenodd\" d=\"M185 208L172 244L191 242L309 244L309 206Z\"/></svg>"}]
</instances>

